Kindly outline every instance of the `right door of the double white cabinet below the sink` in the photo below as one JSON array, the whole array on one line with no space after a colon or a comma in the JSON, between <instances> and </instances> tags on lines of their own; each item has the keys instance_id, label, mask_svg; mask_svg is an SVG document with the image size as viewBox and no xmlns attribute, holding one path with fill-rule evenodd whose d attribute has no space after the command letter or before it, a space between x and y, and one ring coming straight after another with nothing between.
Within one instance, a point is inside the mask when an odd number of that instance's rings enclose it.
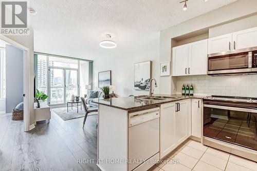
<instances>
[{"instance_id":1,"label":"right door of the double white cabinet below the sink","mask_svg":"<svg viewBox=\"0 0 257 171\"><path fill-rule=\"evenodd\" d=\"M177 144L185 141L188 135L188 101L178 101L178 109L175 114L175 139Z\"/></svg>"}]
</instances>

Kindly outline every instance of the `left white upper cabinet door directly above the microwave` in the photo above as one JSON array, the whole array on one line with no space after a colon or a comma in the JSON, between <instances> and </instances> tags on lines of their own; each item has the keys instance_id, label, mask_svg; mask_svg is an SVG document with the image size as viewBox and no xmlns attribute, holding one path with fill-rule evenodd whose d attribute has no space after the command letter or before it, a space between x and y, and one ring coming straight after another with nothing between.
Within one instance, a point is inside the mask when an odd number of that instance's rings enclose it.
<instances>
[{"instance_id":1,"label":"left white upper cabinet door directly above the microwave","mask_svg":"<svg viewBox=\"0 0 257 171\"><path fill-rule=\"evenodd\" d=\"M232 33L208 39L208 54L227 52L232 49Z\"/></svg>"}]
</instances>

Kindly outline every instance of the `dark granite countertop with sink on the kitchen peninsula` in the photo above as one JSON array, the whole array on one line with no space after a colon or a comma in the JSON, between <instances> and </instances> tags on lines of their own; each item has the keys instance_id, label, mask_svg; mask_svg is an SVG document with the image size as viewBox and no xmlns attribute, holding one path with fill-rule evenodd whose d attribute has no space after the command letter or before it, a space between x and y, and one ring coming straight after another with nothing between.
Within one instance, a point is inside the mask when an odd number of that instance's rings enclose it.
<instances>
[{"instance_id":1,"label":"dark granite countertop with sink on the kitchen peninsula","mask_svg":"<svg viewBox=\"0 0 257 171\"><path fill-rule=\"evenodd\" d=\"M95 98L93 99L92 102L102 104L102 105L107 105L111 106L113 108L121 109L121 110L126 110L126 111L132 111L132 110L138 110L138 109L144 109L147 108L148 106L157 106L159 104L163 103L169 103L173 101L179 101L179 100L184 100L184 99L189 99L189 98L197 98L197 99L202 99L205 98L206 96L182 96L178 94L174 95L164 95L164 94L155 94L153 96L168 96L168 97L175 97L172 99L167 99L163 101L157 101L157 100L146 100L146 99L141 99L140 97L119 97L119 98L110 98L110 99L103 99L103 98Z\"/></svg>"}]
</instances>

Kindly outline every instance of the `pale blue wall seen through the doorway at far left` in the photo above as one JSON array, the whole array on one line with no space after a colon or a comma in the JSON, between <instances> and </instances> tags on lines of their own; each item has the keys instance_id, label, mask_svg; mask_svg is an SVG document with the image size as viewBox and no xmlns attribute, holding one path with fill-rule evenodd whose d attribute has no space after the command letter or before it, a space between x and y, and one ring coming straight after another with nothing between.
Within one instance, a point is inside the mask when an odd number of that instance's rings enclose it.
<instances>
[{"instance_id":1,"label":"pale blue wall seen through the doorway at far left","mask_svg":"<svg viewBox=\"0 0 257 171\"><path fill-rule=\"evenodd\" d=\"M6 113L23 101L23 50L6 45Z\"/></svg>"}]
</instances>

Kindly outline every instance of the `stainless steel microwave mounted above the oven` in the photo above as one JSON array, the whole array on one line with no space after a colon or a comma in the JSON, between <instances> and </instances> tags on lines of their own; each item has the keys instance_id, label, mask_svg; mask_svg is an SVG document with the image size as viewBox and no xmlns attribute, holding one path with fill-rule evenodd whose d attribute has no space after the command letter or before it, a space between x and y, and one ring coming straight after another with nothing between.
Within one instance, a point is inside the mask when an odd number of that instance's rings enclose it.
<instances>
[{"instance_id":1,"label":"stainless steel microwave mounted above the oven","mask_svg":"<svg viewBox=\"0 0 257 171\"><path fill-rule=\"evenodd\" d=\"M208 75L257 74L257 47L208 55Z\"/></svg>"}]
</instances>

